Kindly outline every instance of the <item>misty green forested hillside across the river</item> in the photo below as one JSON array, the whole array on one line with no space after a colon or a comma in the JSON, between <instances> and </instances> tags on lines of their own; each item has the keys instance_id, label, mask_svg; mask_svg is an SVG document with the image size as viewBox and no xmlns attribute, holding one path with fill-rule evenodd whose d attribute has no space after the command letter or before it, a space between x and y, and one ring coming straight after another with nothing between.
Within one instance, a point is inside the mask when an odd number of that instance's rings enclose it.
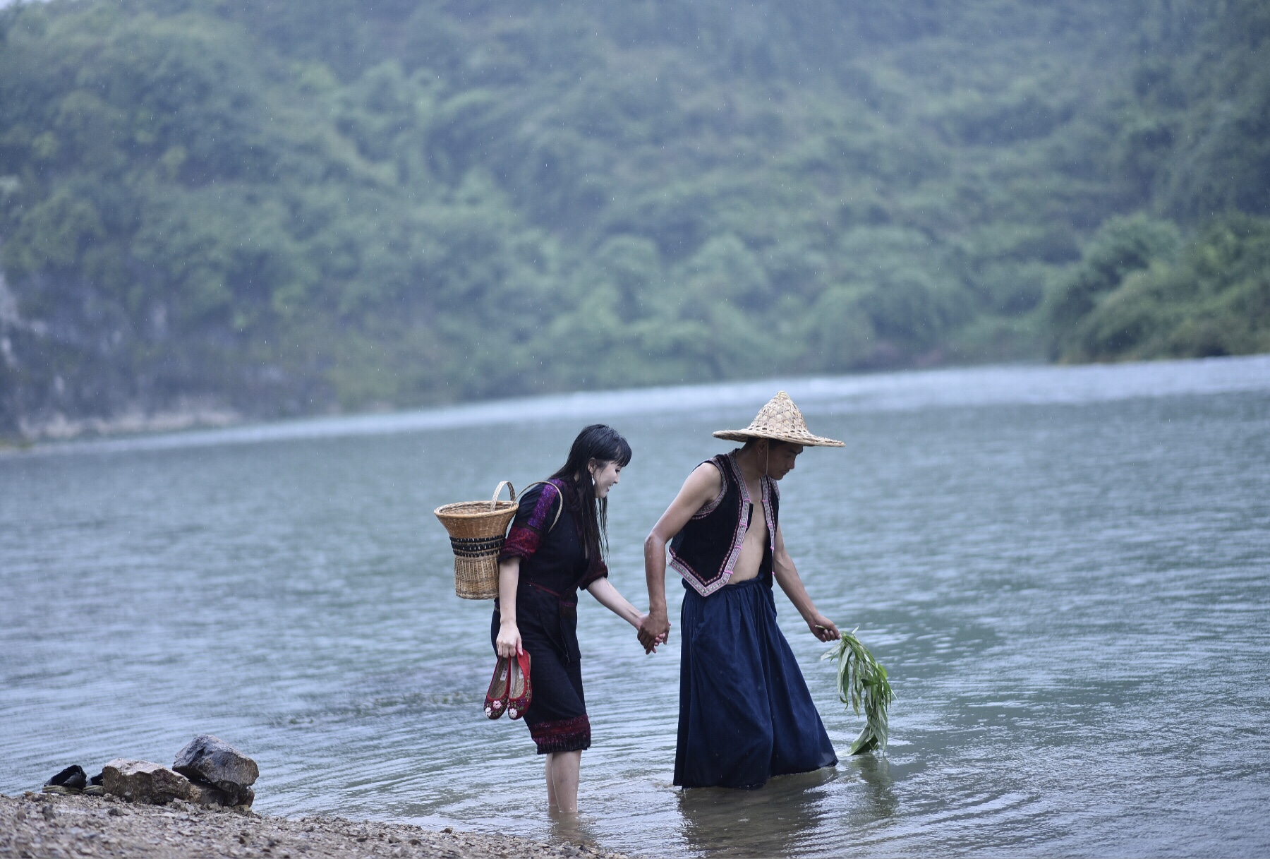
<instances>
[{"instance_id":1,"label":"misty green forested hillside across the river","mask_svg":"<svg viewBox=\"0 0 1270 859\"><path fill-rule=\"evenodd\" d=\"M1255 0L0 10L0 431L1270 349Z\"/></svg>"}]
</instances>

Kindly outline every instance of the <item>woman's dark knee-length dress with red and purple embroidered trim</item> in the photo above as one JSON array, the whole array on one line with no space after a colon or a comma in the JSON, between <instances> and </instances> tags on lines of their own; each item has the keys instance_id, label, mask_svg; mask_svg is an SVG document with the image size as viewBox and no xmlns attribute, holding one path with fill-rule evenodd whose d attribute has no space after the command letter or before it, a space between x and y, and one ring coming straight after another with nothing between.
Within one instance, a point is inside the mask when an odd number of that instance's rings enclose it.
<instances>
[{"instance_id":1,"label":"woman's dark knee-length dress with red and purple embroidered trim","mask_svg":"<svg viewBox=\"0 0 1270 859\"><path fill-rule=\"evenodd\" d=\"M588 559L579 539L579 516L578 494L568 480L531 487L521 496L499 555L499 562L521 559L516 625L530 654L533 685L525 723L540 755L591 747L578 649L578 588L608 576L608 568L599 558ZM495 600L490 642L498 638L499 621Z\"/></svg>"}]
</instances>

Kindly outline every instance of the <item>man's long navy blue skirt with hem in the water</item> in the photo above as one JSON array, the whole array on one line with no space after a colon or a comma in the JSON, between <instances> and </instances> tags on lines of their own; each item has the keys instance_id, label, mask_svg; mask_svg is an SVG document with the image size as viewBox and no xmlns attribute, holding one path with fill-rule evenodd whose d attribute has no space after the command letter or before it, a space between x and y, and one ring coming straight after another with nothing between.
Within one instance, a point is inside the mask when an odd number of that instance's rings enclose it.
<instances>
[{"instance_id":1,"label":"man's long navy blue skirt with hem in the water","mask_svg":"<svg viewBox=\"0 0 1270 859\"><path fill-rule=\"evenodd\" d=\"M838 762L767 577L683 596L674 784L757 788Z\"/></svg>"}]
</instances>

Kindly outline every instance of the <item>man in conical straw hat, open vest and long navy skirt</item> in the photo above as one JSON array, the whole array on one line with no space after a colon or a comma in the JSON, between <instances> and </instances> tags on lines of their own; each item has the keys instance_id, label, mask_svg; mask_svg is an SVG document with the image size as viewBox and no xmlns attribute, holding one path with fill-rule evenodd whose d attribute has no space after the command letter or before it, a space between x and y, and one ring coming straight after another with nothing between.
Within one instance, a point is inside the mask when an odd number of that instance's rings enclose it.
<instances>
[{"instance_id":1,"label":"man in conical straw hat, open vest and long navy skirt","mask_svg":"<svg viewBox=\"0 0 1270 859\"><path fill-rule=\"evenodd\" d=\"M776 625L772 578L813 635L822 642L839 638L833 621L817 611L785 550L776 482L794 470L804 447L843 443L808 432L785 391L748 428L714 435L745 446L698 465L644 541L649 614L639 639L652 651L669 635L669 543L671 565L686 587L674 784L757 788L772 775L838 762Z\"/></svg>"}]
</instances>

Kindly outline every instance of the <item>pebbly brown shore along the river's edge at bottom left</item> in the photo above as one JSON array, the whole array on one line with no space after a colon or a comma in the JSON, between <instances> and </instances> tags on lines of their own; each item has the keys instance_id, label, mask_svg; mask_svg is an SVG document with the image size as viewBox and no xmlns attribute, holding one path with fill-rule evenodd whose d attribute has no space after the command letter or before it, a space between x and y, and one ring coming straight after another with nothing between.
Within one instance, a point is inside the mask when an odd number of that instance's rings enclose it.
<instances>
[{"instance_id":1,"label":"pebbly brown shore along the river's edge at bottom left","mask_svg":"<svg viewBox=\"0 0 1270 859\"><path fill-rule=\"evenodd\" d=\"M267 817L174 799L166 806L116 797L0 794L0 856L145 856L146 859L300 859L301 856L418 856L486 859L626 859L585 845L513 836L441 832L408 823L340 817Z\"/></svg>"}]
</instances>

